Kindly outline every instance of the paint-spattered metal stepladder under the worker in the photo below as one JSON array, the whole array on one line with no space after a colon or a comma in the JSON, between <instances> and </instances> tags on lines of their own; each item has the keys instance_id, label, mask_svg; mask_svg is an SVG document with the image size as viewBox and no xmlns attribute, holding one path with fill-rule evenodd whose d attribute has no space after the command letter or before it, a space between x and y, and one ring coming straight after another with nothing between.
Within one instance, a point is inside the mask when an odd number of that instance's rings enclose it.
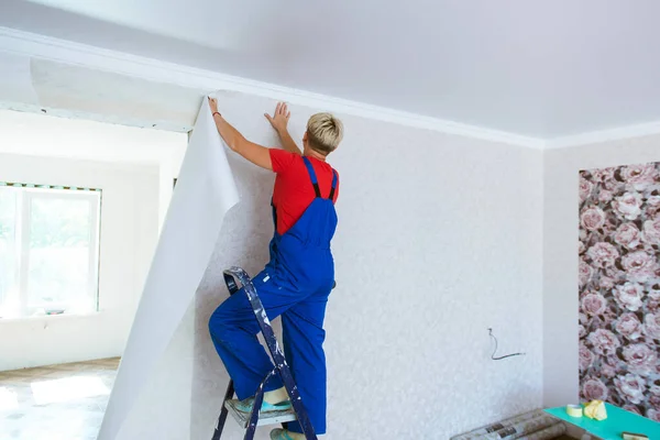
<instances>
[{"instance_id":1,"label":"paint-spattered metal stepladder under the worker","mask_svg":"<svg viewBox=\"0 0 660 440\"><path fill-rule=\"evenodd\" d=\"M252 279L245 273L245 271L240 267L231 267L224 271L223 275L224 283L227 284L230 295L239 292L237 278L243 286L245 295L248 295L248 299L252 306L252 310L254 311L256 321L258 322L258 327L261 328L262 334L266 341L266 345L268 346L268 351L271 352L273 361L275 362L275 367L266 375L266 377L264 377L258 386L256 394L254 395L254 407L252 408L252 414L250 414L249 417L246 414L239 411L232 405L231 399L234 396L234 387L233 381L229 381L227 393L224 394L224 400L222 403L222 410L220 411L220 417L218 418L218 425L216 426L212 440L220 440L220 436L222 436L222 429L224 428L224 422L227 421L227 416L229 414L231 414L243 428L246 428L243 440L252 440L257 426L283 424L294 420L298 420L307 440L318 440L314 431L314 427L309 421L309 417L307 416L307 410L302 405L302 399L300 398L300 393L298 392L298 387L294 382L292 371L284 359L284 353L277 343L275 332L273 331L271 321L266 316L264 306L261 299L258 299L258 295L256 295L256 288L254 287L254 284L252 284ZM279 374L279 377L282 377L282 382L284 383L292 402L293 411L274 411L273 414L270 411L267 417L260 418L260 409L264 399L264 386L266 382L275 374Z\"/></svg>"}]
</instances>

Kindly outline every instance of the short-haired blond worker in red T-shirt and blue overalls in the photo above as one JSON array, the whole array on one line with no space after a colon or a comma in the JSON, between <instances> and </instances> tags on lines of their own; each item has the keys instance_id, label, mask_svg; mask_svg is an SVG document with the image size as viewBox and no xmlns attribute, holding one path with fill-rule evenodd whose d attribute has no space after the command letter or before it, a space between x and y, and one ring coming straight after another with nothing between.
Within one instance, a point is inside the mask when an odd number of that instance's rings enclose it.
<instances>
[{"instance_id":1,"label":"short-haired blond worker in red T-shirt and blue overalls","mask_svg":"<svg viewBox=\"0 0 660 440\"><path fill-rule=\"evenodd\" d=\"M278 103L265 114L282 146L266 148L248 141L222 118L216 99L209 98L218 132L235 153L253 164L275 172L273 219L275 232L271 260L254 277L254 287L271 320L282 316L284 352L317 435L326 432L326 356L323 318L334 284L330 241L337 228L334 202L339 196L338 173L326 162L343 138L343 125L329 113L309 118L302 151L288 133L290 112ZM258 342L258 324L248 297L231 295L213 312L209 331L218 354L234 381L235 406L252 411L254 394L273 370ZM292 407L278 375L264 388L262 414ZM305 439L297 421L271 432L273 440Z\"/></svg>"}]
</instances>

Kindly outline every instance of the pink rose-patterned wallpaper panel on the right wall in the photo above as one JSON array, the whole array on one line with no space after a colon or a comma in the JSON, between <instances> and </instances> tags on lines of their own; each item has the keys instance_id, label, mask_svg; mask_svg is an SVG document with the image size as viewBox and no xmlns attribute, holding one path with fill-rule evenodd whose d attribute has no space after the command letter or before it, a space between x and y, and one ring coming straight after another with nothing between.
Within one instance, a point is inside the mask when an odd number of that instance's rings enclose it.
<instances>
[{"instance_id":1,"label":"pink rose-patterned wallpaper panel on the right wall","mask_svg":"<svg viewBox=\"0 0 660 440\"><path fill-rule=\"evenodd\" d=\"M660 421L660 163L580 172L580 394Z\"/></svg>"}]
</instances>

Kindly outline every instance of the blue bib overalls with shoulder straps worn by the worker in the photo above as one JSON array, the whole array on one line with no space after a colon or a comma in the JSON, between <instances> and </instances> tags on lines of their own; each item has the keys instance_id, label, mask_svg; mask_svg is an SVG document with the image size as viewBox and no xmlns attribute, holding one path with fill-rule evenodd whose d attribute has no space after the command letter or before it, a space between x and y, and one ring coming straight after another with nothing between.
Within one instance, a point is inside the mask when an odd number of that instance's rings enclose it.
<instances>
[{"instance_id":1,"label":"blue bib overalls with shoulder straps worn by the worker","mask_svg":"<svg viewBox=\"0 0 660 440\"><path fill-rule=\"evenodd\" d=\"M337 228L332 202L337 188L337 172L328 198L321 196L316 173L309 158L302 157L316 198L302 217L284 234L271 241L271 261L253 279L268 318L282 316L284 352L292 369L309 419L318 435L326 432L326 355L323 353L323 318L328 296L334 283L334 262L330 240ZM256 339L258 324L248 297L241 290L216 309L209 320L209 331L216 350L234 381L239 399L255 394L273 363ZM265 391L282 387L278 375ZM302 432L298 422L287 429Z\"/></svg>"}]
</instances>

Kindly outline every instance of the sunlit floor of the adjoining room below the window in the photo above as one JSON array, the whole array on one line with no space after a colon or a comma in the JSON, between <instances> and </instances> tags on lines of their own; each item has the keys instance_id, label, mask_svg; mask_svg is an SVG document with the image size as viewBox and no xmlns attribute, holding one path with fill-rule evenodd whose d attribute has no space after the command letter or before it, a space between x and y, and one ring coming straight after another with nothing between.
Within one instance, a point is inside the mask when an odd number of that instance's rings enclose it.
<instances>
[{"instance_id":1,"label":"sunlit floor of the adjoining room below the window","mask_svg":"<svg viewBox=\"0 0 660 440\"><path fill-rule=\"evenodd\" d=\"M0 372L0 439L96 440L119 358Z\"/></svg>"}]
</instances>

